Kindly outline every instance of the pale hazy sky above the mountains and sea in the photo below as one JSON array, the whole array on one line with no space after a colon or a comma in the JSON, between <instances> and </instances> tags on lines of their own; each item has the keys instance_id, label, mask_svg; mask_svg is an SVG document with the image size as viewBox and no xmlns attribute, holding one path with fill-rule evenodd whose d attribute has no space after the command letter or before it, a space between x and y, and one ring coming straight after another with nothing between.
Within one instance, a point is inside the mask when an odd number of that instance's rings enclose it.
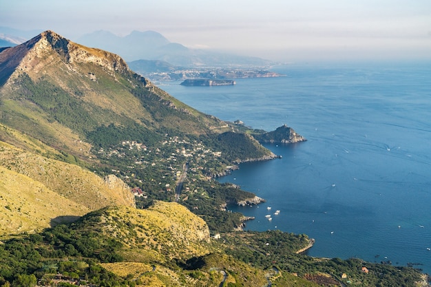
<instances>
[{"instance_id":1,"label":"pale hazy sky above the mountains and sea","mask_svg":"<svg viewBox=\"0 0 431 287\"><path fill-rule=\"evenodd\" d=\"M431 59L431 0L0 0L0 26L72 41L154 30L277 61Z\"/></svg>"}]
</instances>

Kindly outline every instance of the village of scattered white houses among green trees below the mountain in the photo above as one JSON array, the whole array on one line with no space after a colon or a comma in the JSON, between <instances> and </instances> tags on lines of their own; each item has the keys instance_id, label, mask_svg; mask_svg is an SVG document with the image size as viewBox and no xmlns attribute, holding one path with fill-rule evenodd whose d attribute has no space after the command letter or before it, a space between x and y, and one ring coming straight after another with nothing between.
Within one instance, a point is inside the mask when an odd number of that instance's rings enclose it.
<instances>
[{"instance_id":1,"label":"village of scattered white houses among green trees below the mountain","mask_svg":"<svg viewBox=\"0 0 431 287\"><path fill-rule=\"evenodd\" d=\"M178 136L169 137L152 148L136 140L124 140L116 147L98 149L96 156L105 160L115 158L121 163L117 166L123 167L122 170L110 171L130 184L132 193L142 198L147 198L148 193L155 188L174 195L176 181L182 175L185 162L189 163L189 182L200 180L202 177L209 180L211 174L220 173L225 169L218 160L222 156L220 151L211 151L202 142L197 140L189 142L181 140ZM185 189L189 191L190 187Z\"/></svg>"}]
</instances>

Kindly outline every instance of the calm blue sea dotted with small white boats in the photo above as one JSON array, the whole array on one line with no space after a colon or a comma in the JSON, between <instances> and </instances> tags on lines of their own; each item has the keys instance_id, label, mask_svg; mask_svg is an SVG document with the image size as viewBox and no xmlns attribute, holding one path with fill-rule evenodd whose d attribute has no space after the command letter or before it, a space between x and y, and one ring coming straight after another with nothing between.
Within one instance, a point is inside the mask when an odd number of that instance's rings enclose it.
<instances>
[{"instance_id":1,"label":"calm blue sea dotted with small white boats","mask_svg":"<svg viewBox=\"0 0 431 287\"><path fill-rule=\"evenodd\" d=\"M159 84L222 120L266 131L286 124L307 139L266 145L282 159L240 164L221 178L266 200L231 210L255 217L246 229L315 238L314 257L411 263L431 273L431 63L272 70L285 76Z\"/></svg>"}]
</instances>

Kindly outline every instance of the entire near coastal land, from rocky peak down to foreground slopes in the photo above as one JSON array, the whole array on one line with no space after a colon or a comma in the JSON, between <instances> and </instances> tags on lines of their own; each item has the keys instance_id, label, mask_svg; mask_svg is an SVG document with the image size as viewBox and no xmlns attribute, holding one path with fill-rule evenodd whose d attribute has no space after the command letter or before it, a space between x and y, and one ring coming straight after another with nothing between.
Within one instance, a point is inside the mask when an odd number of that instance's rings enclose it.
<instances>
[{"instance_id":1,"label":"entire near coastal land, from rocky peak down to foreground slopes","mask_svg":"<svg viewBox=\"0 0 431 287\"><path fill-rule=\"evenodd\" d=\"M298 254L307 235L234 232L247 218L226 205L261 200L213 177L275 158L260 134L52 31L1 50L0 286L426 285L410 267Z\"/></svg>"}]
</instances>

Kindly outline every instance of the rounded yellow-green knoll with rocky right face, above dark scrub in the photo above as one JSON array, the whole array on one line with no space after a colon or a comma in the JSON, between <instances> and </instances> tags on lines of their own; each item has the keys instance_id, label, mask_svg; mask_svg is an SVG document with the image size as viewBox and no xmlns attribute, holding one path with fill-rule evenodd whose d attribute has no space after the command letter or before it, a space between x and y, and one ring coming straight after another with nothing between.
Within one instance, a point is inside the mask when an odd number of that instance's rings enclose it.
<instances>
[{"instance_id":1,"label":"rounded yellow-green knoll with rocky right face, above dark scrub","mask_svg":"<svg viewBox=\"0 0 431 287\"><path fill-rule=\"evenodd\" d=\"M127 246L129 261L166 262L210 252L206 222L175 202L156 202L149 209L115 207L103 221L105 232Z\"/></svg>"}]
</instances>

